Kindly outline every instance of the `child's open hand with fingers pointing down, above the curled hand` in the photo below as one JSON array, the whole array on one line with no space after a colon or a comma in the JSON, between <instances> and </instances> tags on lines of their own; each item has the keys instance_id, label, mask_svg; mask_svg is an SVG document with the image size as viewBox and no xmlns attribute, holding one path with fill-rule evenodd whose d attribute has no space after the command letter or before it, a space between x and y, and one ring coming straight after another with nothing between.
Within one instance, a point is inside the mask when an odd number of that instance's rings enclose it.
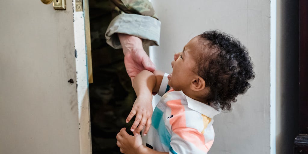
<instances>
[{"instance_id":1,"label":"child's open hand with fingers pointing down, above the curled hand","mask_svg":"<svg viewBox=\"0 0 308 154\"><path fill-rule=\"evenodd\" d=\"M152 95L139 95L129 113L126 123L128 123L134 115L136 115L135 122L132 125L131 131L136 136L144 128L143 135L146 135L151 127L152 118ZM139 126L138 126L139 124ZM138 128L137 128L138 126Z\"/></svg>"}]
</instances>

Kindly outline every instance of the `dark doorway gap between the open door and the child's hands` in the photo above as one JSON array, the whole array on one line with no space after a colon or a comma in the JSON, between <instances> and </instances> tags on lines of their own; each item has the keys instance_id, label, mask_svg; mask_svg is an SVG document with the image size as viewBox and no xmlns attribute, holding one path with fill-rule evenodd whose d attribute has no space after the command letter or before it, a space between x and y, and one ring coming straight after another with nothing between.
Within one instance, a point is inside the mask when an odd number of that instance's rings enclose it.
<instances>
[{"instance_id":1,"label":"dark doorway gap between the open door and the child's hands","mask_svg":"<svg viewBox=\"0 0 308 154\"><path fill-rule=\"evenodd\" d=\"M89 0L89 13L94 81L89 84L92 152L121 153L115 136L132 125L125 119L136 94L125 70L123 51L113 49L105 40L112 19L109 0Z\"/></svg>"}]
</instances>

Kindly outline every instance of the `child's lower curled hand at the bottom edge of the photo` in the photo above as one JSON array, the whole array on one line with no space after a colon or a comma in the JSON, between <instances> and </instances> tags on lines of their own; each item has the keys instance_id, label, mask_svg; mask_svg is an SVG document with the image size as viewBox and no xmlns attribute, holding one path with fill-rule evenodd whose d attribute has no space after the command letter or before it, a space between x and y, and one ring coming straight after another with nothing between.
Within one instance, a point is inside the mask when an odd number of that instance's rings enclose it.
<instances>
[{"instance_id":1,"label":"child's lower curled hand at the bottom edge of the photo","mask_svg":"<svg viewBox=\"0 0 308 154\"><path fill-rule=\"evenodd\" d=\"M122 128L116 135L116 145L120 148L120 152L126 154L136 154L140 146L142 146L142 139L140 134L131 136L126 132L126 128Z\"/></svg>"}]
</instances>

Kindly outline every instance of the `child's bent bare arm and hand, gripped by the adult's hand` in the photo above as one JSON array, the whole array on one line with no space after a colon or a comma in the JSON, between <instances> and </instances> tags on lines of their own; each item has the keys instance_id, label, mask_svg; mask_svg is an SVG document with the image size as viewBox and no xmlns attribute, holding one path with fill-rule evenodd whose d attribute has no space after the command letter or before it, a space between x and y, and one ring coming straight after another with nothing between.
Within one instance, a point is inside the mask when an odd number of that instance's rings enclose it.
<instances>
[{"instance_id":1,"label":"child's bent bare arm and hand, gripped by the adult's hand","mask_svg":"<svg viewBox=\"0 0 308 154\"><path fill-rule=\"evenodd\" d=\"M135 135L139 134L144 126L144 135L146 135L151 127L151 116L153 112L152 92L158 92L163 76L164 73L160 71L154 71L152 73L144 70L136 75L132 81L137 99L135 100L132 111L129 113L126 122L128 123L132 117L136 115L135 122L131 128L131 131Z\"/></svg>"}]
</instances>

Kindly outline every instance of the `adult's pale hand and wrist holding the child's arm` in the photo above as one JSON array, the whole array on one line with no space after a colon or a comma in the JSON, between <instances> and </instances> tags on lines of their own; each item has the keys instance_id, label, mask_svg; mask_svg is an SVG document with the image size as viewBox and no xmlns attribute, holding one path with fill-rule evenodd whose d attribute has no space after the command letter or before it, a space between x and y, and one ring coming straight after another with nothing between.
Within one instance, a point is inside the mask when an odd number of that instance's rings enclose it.
<instances>
[{"instance_id":1,"label":"adult's pale hand and wrist holding the child's arm","mask_svg":"<svg viewBox=\"0 0 308 154\"><path fill-rule=\"evenodd\" d=\"M134 77L143 70L155 71L155 66L142 47L142 40L136 36L118 33L128 76Z\"/></svg>"}]
</instances>

